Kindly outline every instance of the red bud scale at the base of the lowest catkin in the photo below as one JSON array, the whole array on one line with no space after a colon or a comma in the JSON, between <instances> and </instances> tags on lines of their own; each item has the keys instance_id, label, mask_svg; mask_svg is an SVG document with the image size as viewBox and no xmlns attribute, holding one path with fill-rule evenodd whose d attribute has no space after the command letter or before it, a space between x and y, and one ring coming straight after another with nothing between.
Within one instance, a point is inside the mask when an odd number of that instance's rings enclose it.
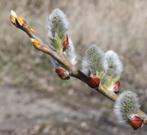
<instances>
[{"instance_id":1,"label":"red bud scale at the base of the lowest catkin","mask_svg":"<svg viewBox=\"0 0 147 135\"><path fill-rule=\"evenodd\" d=\"M140 118L138 115L133 115L130 119L129 119L129 123L130 125L133 127L133 129L138 129L140 127L143 126L143 119Z\"/></svg>"}]
</instances>

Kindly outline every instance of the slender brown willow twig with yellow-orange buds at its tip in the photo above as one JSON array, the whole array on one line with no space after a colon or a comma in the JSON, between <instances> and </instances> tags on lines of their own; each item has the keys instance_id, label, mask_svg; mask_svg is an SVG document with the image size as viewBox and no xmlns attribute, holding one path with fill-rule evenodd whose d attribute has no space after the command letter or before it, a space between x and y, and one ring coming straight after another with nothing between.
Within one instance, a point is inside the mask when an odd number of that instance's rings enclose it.
<instances>
[{"instance_id":1,"label":"slender brown willow twig with yellow-orange buds at its tip","mask_svg":"<svg viewBox=\"0 0 147 135\"><path fill-rule=\"evenodd\" d=\"M32 45L39 51L53 57L55 60L57 60L60 64L62 64L66 69L70 72L70 75L74 78L77 78L81 80L82 82L86 83L88 82L88 76L86 76L81 70L79 70L76 66L72 65L65 57L64 55L57 53L55 50L53 50L49 45L46 45L41 40L39 40L39 37L35 35L34 30L28 25L28 23L24 20L23 17L17 16L14 11L11 12L10 15L10 21L11 23L18 29L21 29L24 31L29 38L31 39ZM115 101L117 99L117 94L110 92L107 90L107 88L100 85L99 90L97 90L107 98L109 98L112 101ZM147 116L142 111L139 110L138 114L144 118L144 124L147 125Z\"/></svg>"}]
</instances>

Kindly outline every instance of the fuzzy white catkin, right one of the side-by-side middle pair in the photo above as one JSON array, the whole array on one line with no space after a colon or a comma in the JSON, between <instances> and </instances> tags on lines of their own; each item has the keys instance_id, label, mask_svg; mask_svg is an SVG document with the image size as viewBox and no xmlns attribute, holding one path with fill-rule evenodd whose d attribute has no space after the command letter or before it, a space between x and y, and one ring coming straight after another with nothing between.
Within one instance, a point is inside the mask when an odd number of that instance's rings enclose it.
<instances>
[{"instance_id":1,"label":"fuzzy white catkin, right one of the side-by-side middle pair","mask_svg":"<svg viewBox=\"0 0 147 135\"><path fill-rule=\"evenodd\" d=\"M119 79L123 71L123 65L117 53L112 50L107 51L105 53L104 63L108 66L106 74L113 79Z\"/></svg>"}]
</instances>

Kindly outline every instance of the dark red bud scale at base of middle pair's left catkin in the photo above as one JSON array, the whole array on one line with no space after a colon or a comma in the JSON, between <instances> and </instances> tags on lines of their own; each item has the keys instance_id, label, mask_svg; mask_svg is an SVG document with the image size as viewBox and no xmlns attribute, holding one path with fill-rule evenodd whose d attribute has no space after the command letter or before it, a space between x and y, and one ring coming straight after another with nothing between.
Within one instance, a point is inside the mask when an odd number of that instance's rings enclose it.
<instances>
[{"instance_id":1,"label":"dark red bud scale at base of middle pair's left catkin","mask_svg":"<svg viewBox=\"0 0 147 135\"><path fill-rule=\"evenodd\" d=\"M96 76L90 76L88 78L87 84L91 87L91 88L98 88L99 84L100 84L100 79Z\"/></svg>"}]
</instances>

